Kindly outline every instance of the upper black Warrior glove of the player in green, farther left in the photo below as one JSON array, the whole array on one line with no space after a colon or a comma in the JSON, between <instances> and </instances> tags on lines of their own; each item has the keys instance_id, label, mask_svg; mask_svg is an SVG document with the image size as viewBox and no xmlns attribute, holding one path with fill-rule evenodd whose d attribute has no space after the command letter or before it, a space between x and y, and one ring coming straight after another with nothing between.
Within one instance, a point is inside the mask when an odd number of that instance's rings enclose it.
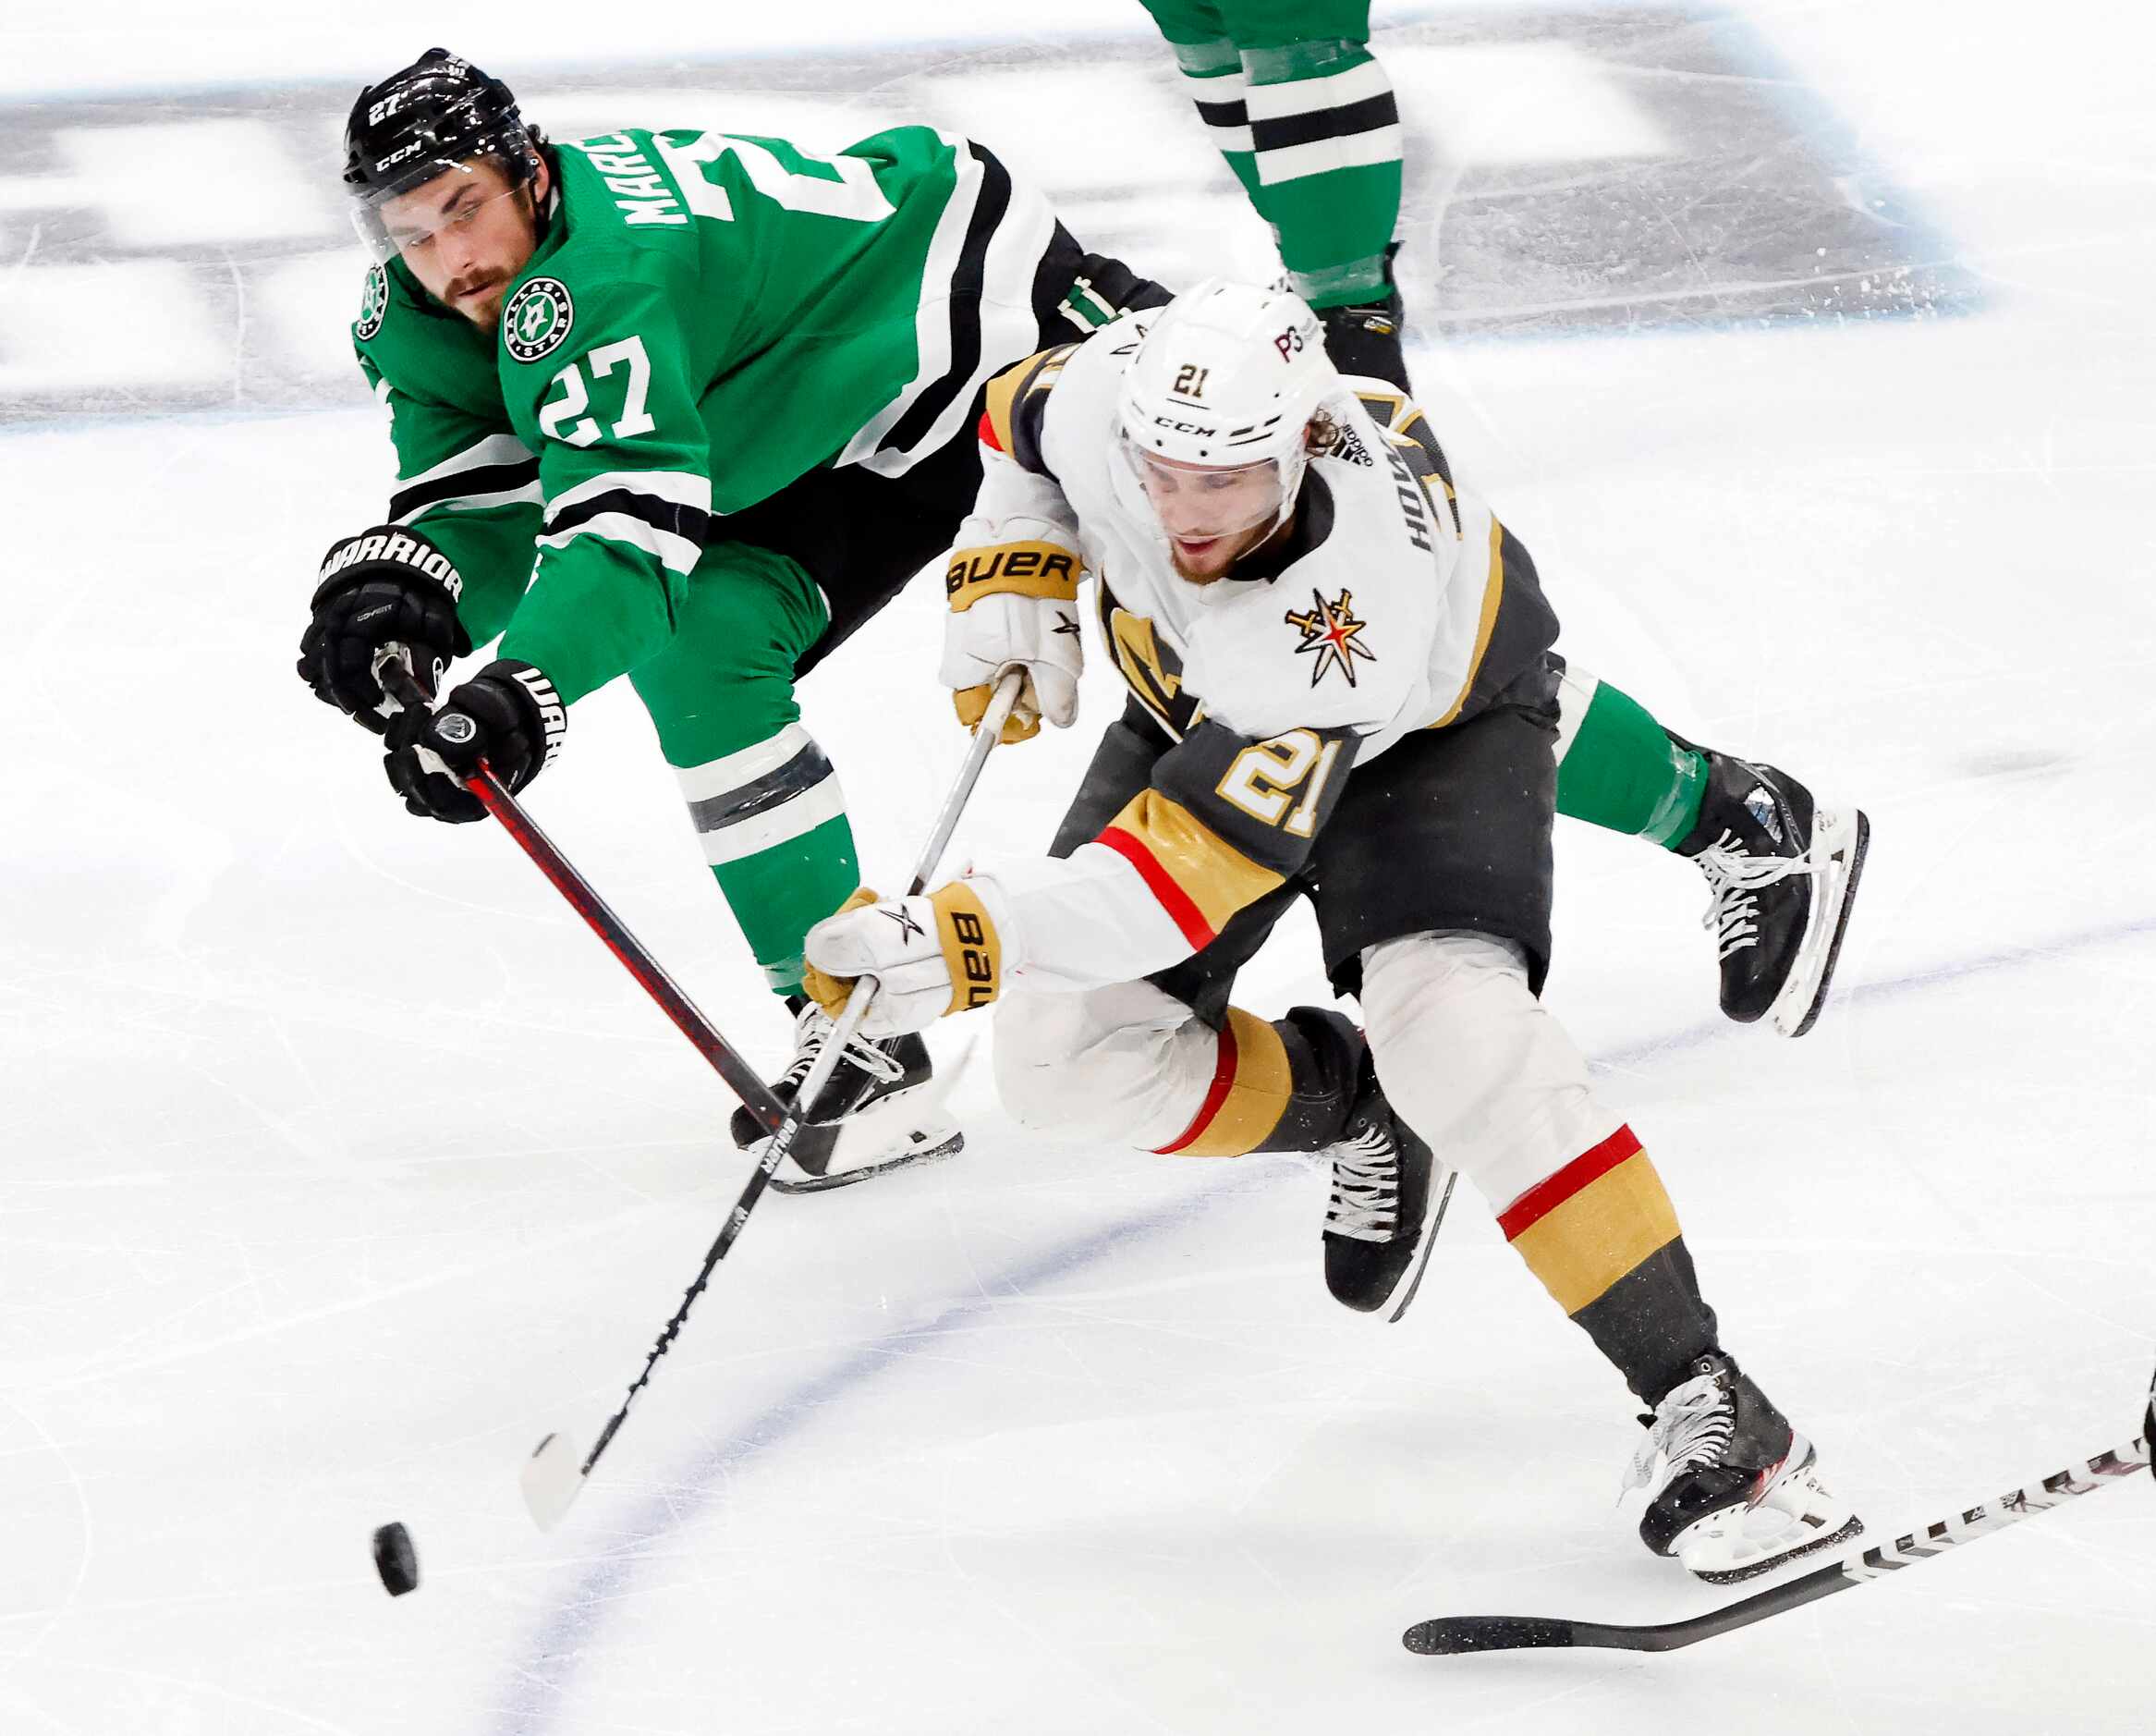
<instances>
[{"instance_id":1,"label":"upper black Warrior glove of the player in green, farther left","mask_svg":"<svg viewBox=\"0 0 2156 1736\"><path fill-rule=\"evenodd\" d=\"M315 587L315 619L300 634L300 679L319 701L382 733L397 712L382 697L375 662L384 647L405 653L433 699L451 658L472 649L457 619L464 576L433 543L395 524L377 524L330 543Z\"/></svg>"}]
</instances>

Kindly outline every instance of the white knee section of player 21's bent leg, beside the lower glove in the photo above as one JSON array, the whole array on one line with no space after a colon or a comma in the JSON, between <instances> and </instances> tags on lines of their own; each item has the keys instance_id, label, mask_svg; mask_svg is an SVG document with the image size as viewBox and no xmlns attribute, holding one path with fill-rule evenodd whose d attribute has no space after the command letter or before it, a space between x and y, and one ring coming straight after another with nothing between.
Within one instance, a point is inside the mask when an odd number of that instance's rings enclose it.
<instances>
[{"instance_id":1,"label":"white knee section of player 21's bent leg, beside the lower glove","mask_svg":"<svg viewBox=\"0 0 2156 1736\"><path fill-rule=\"evenodd\" d=\"M1024 1126L1158 1149L1197 1115L1218 1035L1151 983L996 1003L996 1091Z\"/></svg>"}]
</instances>

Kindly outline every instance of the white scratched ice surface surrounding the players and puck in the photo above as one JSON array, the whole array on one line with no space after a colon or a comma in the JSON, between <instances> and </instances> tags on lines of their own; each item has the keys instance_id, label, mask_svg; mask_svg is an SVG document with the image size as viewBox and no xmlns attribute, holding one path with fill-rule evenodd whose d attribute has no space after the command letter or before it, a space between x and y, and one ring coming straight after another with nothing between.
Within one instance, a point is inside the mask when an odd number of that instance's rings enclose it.
<instances>
[{"instance_id":1,"label":"white scratched ice surface surrounding the players and puck","mask_svg":"<svg viewBox=\"0 0 2156 1736\"><path fill-rule=\"evenodd\" d=\"M103 9L11 19L0 67L17 114L106 82L129 125L192 127L196 99L144 114L144 93L291 86L302 112L302 80L354 84L425 41L634 93L655 63L774 47L770 17L750 43L733 11L392 4L332 30ZM1074 78L1067 50L1100 30L1108 73L1153 88L1134 6L1024 30L1009 11L826 9L802 65L955 41L910 75L938 80L946 119L979 75L1015 129L1024 104L964 43L1000 30ZM1699 71L1669 15L1606 9L1604 35L1567 41L1587 60L1645 43L1632 91L1744 82ZM1416 52L1410 32L1453 28L1380 19ZM1921 224L1895 257L1953 291L1951 317L1695 298L1651 332L1567 321L1414 362L1578 660L1874 817L1843 990L1805 1042L1714 1016L1688 869L1578 828L1550 998L1669 1177L1731 1348L1893 1535L2124 1441L2156 1346L2150 41L2089 0L1951 26L1917 0L1772 4L1744 26L1777 71L1727 101L1807 119L1794 155L1712 157L1725 185L1662 207L1708 248L1699 285L1740 280L1738 239L1779 237L1787 265L1826 209L1820 164L1861 164ZM1093 125L1125 162L1112 119ZM1177 175L1214 175L1173 108L1147 125ZM1507 209L1639 190L1611 164L1662 173L1669 136L1617 127L1591 164L1509 144ZM744 1177L729 1102L507 839L410 822L291 679L315 556L379 511L379 423L160 410L190 345L218 352L222 388L248 377L229 308L188 313L205 254L157 239L188 211L78 144L0 168L0 373L108 408L67 416L39 386L0 436L0 1730L2150 1725L2141 1482L1677 1656L1406 1656L1399 1628L1434 1613L1716 1600L1613 1510L1626 1395L1473 1197L1414 1313L1378 1326L1324 1298L1307 1167L1056 1147L1011 1128L985 1067L962 1085L966 1158L765 1201L571 1520L537 1535L522 1456L597 1425L673 1309ZM1011 147L1067 177L1080 233L1121 235L1117 201L1084 209L1089 151L1054 129ZM84 188L11 203L41 177ZM1130 205L1132 254L1149 263L1147 209L1248 239L1216 179ZM257 237L233 259L285 272L248 298L246 354L334 349L347 317L315 231L274 257L306 196L233 194ZM1451 198L1412 188L1438 263ZM1781 229L1757 218L1777 201ZM1742 233L1729 209L1755 213ZM103 239L45 263L93 222ZM1537 248L1509 257L1565 259ZM1511 306L1550 300L1503 257L1460 263ZM164 298L101 270L160 263ZM52 306L93 315L121 360L26 347ZM886 882L959 757L936 612L906 597L806 684ZM1110 694L1087 703L1097 722ZM959 854L1046 839L1089 740L994 759ZM578 707L533 807L776 1059L780 1020L625 694ZM1322 994L1307 942L1285 929L1240 998ZM388 1518L423 1572L397 1602L367 1557Z\"/></svg>"}]
</instances>

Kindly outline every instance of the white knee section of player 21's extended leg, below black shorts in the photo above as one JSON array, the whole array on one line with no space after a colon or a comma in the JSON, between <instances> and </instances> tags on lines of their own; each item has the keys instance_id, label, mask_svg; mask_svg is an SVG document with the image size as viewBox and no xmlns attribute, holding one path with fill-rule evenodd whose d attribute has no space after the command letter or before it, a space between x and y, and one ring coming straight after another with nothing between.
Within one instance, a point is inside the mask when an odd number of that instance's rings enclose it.
<instances>
[{"instance_id":1,"label":"white knee section of player 21's extended leg, below black shorts","mask_svg":"<svg viewBox=\"0 0 2156 1736\"><path fill-rule=\"evenodd\" d=\"M1587 1059L1514 942L1412 934L1363 955L1363 1016L1397 1115L1503 1208L1604 1139Z\"/></svg>"}]
</instances>

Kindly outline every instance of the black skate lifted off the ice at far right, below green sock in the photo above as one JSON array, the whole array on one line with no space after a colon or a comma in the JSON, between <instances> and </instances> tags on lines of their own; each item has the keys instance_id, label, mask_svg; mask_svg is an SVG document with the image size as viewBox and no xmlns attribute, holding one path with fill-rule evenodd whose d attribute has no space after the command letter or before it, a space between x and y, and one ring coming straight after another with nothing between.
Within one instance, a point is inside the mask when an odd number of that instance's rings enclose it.
<instances>
[{"instance_id":1,"label":"black skate lifted off the ice at far right, below green sock","mask_svg":"<svg viewBox=\"0 0 2156 1736\"><path fill-rule=\"evenodd\" d=\"M1813 807L1774 766L1697 750L1708 794L1677 854L1708 880L1703 927L1720 955L1723 1011L1744 1024L1772 1014L1781 1035L1802 1037L1826 1005L1871 822L1863 809Z\"/></svg>"}]
</instances>

